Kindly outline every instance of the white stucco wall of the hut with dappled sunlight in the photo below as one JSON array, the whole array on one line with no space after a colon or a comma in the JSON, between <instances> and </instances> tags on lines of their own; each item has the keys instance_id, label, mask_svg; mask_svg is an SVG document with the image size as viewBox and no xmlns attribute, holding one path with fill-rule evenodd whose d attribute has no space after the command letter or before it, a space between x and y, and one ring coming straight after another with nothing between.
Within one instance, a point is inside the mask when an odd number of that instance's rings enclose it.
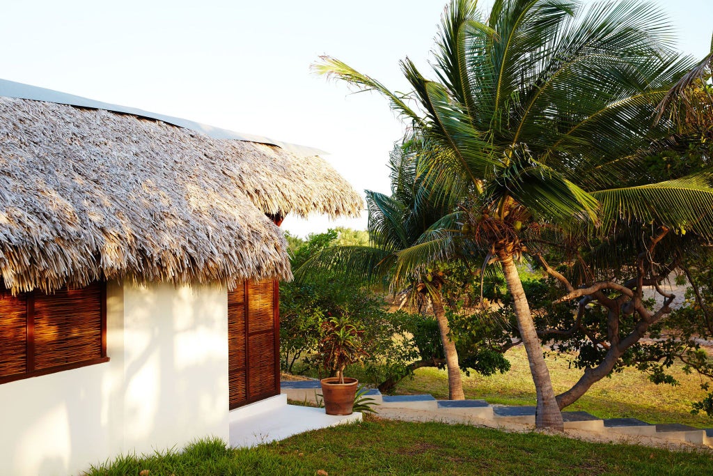
<instances>
[{"instance_id":1,"label":"white stucco wall of the hut with dappled sunlight","mask_svg":"<svg viewBox=\"0 0 713 476\"><path fill-rule=\"evenodd\" d=\"M108 363L0 385L0 475L229 439L227 291L109 283Z\"/></svg>"}]
</instances>

